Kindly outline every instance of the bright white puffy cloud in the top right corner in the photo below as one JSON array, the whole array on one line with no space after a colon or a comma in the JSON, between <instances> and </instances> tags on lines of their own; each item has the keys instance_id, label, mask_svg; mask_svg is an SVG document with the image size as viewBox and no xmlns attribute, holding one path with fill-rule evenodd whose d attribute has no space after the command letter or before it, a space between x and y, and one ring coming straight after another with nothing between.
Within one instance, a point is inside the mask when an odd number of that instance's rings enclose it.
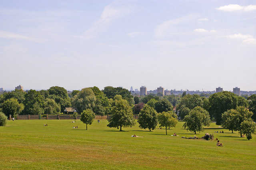
<instances>
[{"instance_id":1,"label":"bright white puffy cloud in the top right corner","mask_svg":"<svg viewBox=\"0 0 256 170\"><path fill-rule=\"evenodd\" d=\"M229 4L225 6L220 6L219 8L216 8L216 10L226 11L226 12L243 10L248 12L248 11L256 10L256 5L240 6L238 4Z\"/></svg>"}]
</instances>

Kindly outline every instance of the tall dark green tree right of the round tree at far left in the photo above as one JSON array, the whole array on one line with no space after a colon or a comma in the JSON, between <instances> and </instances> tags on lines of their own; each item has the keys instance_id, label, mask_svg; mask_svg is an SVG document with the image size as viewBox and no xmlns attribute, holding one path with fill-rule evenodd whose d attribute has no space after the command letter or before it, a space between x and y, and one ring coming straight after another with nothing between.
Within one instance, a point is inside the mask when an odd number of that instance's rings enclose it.
<instances>
[{"instance_id":1,"label":"tall dark green tree right of the round tree at far left","mask_svg":"<svg viewBox=\"0 0 256 170\"><path fill-rule=\"evenodd\" d=\"M38 107L41 109L44 107L44 97L39 91L31 89L25 94L24 106L24 115L34 115L38 113ZM36 113L34 112L35 109L37 110ZM44 113L44 111L41 112L40 110L40 113Z\"/></svg>"}]
</instances>

